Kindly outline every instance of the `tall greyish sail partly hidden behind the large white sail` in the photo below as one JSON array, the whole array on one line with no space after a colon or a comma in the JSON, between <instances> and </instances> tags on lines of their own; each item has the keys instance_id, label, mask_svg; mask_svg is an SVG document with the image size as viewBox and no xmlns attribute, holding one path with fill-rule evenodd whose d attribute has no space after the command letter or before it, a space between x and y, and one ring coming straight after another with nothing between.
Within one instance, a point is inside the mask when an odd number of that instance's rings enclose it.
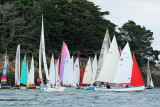
<instances>
[{"instance_id":1,"label":"tall greyish sail partly hidden behind the large white sail","mask_svg":"<svg viewBox=\"0 0 160 107\"><path fill-rule=\"evenodd\" d=\"M100 52L100 56L99 56L99 61L98 61L98 67L97 67L97 71L96 71L96 79L99 75L99 72L102 68L102 65L104 63L103 59L104 59L104 54L106 54L104 52L105 50L105 47L106 47L106 52L108 52L109 50L109 46L110 46L110 36L109 36L109 33L108 33L108 30L106 31L106 34L105 34L105 37L104 37L104 40L103 40L103 45L102 45L102 48L101 48L101 52Z\"/></svg>"}]
</instances>

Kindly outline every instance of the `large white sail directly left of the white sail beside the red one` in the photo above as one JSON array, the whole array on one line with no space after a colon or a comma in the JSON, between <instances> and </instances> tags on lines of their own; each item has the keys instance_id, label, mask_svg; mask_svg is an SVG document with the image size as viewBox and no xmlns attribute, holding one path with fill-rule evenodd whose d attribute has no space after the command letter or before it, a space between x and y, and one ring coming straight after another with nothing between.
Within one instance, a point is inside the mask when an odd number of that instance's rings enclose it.
<instances>
[{"instance_id":1,"label":"large white sail directly left of the white sail beside the red one","mask_svg":"<svg viewBox=\"0 0 160 107\"><path fill-rule=\"evenodd\" d=\"M114 83L119 56L119 49L116 37L114 36L108 50L106 60L103 63L102 69L96 81Z\"/></svg>"}]
</instances>

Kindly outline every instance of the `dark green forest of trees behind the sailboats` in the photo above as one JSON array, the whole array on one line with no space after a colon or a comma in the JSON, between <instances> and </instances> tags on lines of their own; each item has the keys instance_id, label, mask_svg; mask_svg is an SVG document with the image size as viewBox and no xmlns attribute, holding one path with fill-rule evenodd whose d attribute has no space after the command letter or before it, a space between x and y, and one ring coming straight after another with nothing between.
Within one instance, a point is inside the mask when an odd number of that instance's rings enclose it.
<instances>
[{"instance_id":1,"label":"dark green forest of trees behind the sailboats","mask_svg":"<svg viewBox=\"0 0 160 107\"><path fill-rule=\"evenodd\" d=\"M117 26L105 18L109 11L87 0L1 0L0 1L0 53L6 51L9 60L15 59L17 45L21 55L38 60L42 14L46 54L58 58L64 41L71 55L87 58L99 55L104 35L108 29L111 40L115 35L123 49L127 41L140 66L152 59L158 61L159 51L153 50L153 32L128 20ZM118 27L119 31L116 30Z\"/></svg>"}]
</instances>

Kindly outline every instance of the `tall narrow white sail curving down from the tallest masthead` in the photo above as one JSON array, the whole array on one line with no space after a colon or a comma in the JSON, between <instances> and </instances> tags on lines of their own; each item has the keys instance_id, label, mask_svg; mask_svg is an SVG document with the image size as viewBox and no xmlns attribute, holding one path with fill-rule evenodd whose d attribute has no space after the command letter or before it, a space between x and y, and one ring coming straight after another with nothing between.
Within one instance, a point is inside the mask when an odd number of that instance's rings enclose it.
<instances>
[{"instance_id":1,"label":"tall narrow white sail curving down from the tallest masthead","mask_svg":"<svg viewBox=\"0 0 160 107\"><path fill-rule=\"evenodd\" d=\"M48 67L46 62L46 53L45 53L45 42L44 42L44 26L43 26L43 15L42 15L42 29L41 29L41 42L42 42L42 56L43 56L43 65L44 65L44 71L46 73L46 79L49 80L48 75Z\"/></svg>"}]
</instances>

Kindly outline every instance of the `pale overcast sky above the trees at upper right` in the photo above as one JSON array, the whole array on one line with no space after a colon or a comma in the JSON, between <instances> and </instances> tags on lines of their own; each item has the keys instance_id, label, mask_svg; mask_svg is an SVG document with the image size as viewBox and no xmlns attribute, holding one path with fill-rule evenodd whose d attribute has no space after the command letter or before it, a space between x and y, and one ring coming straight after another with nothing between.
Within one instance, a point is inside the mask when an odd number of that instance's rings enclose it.
<instances>
[{"instance_id":1,"label":"pale overcast sky above the trees at upper right","mask_svg":"<svg viewBox=\"0 0 160 107\"><path fill-rule=\"evenodd\" d=\"M109 11L106 16L111 22L121 27L128 20L145 26L153 32L152 47L160 50L160 0L89 0L102 11Z\"/></svg>"}]
</instances>

